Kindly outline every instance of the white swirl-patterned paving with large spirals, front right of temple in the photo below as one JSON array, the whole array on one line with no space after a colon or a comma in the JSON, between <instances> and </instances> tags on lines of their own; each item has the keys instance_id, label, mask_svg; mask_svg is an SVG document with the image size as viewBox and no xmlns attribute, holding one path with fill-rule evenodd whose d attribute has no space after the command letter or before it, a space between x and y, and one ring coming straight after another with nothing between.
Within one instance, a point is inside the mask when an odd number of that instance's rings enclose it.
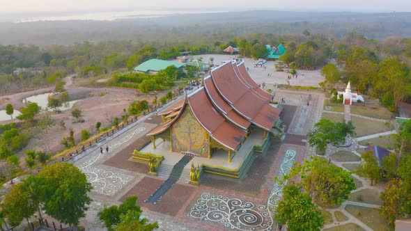
<instances>
[{"instance_id":1,"label":"white swirl-patterned paving with large spirals, front right of temple","mask_svg":"<svg viewBox=\"0 0 411 231\"><path fill-rule=\"evenodd\" d=\"M290 173L297 152L286 150L278 177ZM203 221L220 222L235 230L272 230L274 209L282 196L284 184L275 183L267 200L267 206L243 202L238 198L203 193L187 216Z\"/></svg>"}]
</instances>

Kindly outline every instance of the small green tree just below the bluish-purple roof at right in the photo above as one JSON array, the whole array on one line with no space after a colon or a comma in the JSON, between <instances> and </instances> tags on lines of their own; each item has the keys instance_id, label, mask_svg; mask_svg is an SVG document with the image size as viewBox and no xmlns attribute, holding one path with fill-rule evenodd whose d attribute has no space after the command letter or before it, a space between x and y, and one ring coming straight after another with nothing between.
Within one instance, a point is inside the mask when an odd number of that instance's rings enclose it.
<instances>
[{"instance_id":1,"label":"small green tree just below the bluish-purple roof at right","mask_svg":"<svg viewBox=\"0 0 411 231\"><path fill-rule=\"evenodd\" d=\"M361 157L364 163L361 164L357 173L371 180L371 185L373 185L373 182L375 182L375 184L378 183L381 180L381 167L378 166L377 159L373 152L364 152Z\"/></svg>"}]
</instances>

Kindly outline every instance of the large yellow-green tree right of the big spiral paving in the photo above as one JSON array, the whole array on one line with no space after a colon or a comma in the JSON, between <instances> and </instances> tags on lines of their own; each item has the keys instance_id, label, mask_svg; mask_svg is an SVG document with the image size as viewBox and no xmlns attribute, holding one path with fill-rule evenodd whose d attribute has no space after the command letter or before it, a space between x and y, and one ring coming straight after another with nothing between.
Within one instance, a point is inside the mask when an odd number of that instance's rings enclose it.
<instances>
[{"instance_id":1,"label":"large yellow-green tree right of the big spiral paving","mask_svg":"<svg viewBox=\"0 0 411 231\"><path fill-rule=\"evenodd\" d=\"M293 168L288 177L299 175L301 181L296 184L319 205L341 205L355 189L351 173L328 164L326 159L315 157L311 161L304 161Z\"/></svg>"}]
</instances>

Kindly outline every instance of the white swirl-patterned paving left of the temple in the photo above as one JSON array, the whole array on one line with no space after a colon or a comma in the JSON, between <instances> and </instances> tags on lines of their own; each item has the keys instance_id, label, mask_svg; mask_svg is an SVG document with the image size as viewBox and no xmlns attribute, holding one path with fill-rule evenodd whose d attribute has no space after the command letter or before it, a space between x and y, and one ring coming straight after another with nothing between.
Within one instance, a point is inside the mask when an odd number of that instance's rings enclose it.
<instances>
[{"instance_id":1,"label":"white swirl-patterned paving left of the temple","mask_svg":"<svg viewBox=\"0 0 411 231\"><path fill-rule=\"evenodd\" d=\"M134 129L134 132L127 134L121 138L118 142L110 145L110 152L113 152L117 148L121 147L127 141L130 141L134 136L144 132L145 127L139 127ZM104 154L98 152L98 154L93 155L90 159L85 161L79 166L79 169L86 174L88 182L93 186L94 192L101 193L105 196L114 196L118 191L123 189L123 186L127 185L131 180L134 179L131 175L125 175L122 173L115 173L111 170L107 170L104 167L95 167L99 159L101 159Z\"/></svg>"}]
</instances>

